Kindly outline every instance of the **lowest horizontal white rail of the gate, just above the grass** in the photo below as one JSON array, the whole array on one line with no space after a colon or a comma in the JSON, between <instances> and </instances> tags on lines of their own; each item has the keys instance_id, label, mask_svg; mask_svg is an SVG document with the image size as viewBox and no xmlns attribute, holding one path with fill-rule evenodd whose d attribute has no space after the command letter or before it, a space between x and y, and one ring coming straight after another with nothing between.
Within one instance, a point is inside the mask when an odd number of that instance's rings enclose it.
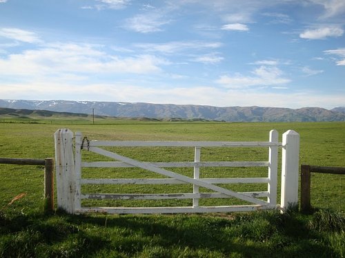
<instances>
[{"instance_id":1,"label":"lowest horizontal white rail of the gate, just above the grass","mask_svg":"<svg viewBox=\"0 0 345 258\"><path fill-rule=\"evenodd\" d=\"M254 205L236 205L236 206L182 206L182 207L135 207L135 208L117 208L117 207L90 207L77 208L75 213L110 213L110 214L152 214L152 213L230 213L241 211L257 211L260 209L272 208L270 206Z\"/></svg>"}]
</instances>

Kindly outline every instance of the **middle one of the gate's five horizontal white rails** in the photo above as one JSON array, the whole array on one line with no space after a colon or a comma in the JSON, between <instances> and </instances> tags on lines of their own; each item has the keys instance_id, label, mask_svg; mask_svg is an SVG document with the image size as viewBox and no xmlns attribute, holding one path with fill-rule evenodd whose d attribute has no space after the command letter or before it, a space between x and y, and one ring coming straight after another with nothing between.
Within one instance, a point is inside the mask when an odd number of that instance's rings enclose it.
<instances>
[{"instance_id":1,"label":"middle one of the gate's five horizontal white rails","mask_svg":"<svg viewBox=\"0 0 345 258\"><path fill-rule=\"evenodd\" d=\"M257 184L268 183L269 178L202 178L210 184ZM161 179L81 179L81 184L188 184L174 178Z\"/></svg>"}]
</instances>

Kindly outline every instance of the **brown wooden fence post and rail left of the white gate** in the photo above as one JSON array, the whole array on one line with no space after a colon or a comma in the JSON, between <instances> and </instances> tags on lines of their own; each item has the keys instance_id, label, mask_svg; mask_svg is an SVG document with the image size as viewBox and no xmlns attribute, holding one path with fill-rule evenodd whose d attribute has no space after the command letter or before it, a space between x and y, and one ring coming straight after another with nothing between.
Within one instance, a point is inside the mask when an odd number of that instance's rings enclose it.
<instances>
[{"instance_id":1,"label":"brown wooden fence post and rail left of the white gate","mask_svg":"<svg viewBox=\"0 0 345 258\"><path fill-rule=\"evenodd\" d=\"M46 211L54 210L54 159L44 160L29 158L0 158L0 164L37 165L44 166L44 197Z\"/></svg>"}]
</instances>

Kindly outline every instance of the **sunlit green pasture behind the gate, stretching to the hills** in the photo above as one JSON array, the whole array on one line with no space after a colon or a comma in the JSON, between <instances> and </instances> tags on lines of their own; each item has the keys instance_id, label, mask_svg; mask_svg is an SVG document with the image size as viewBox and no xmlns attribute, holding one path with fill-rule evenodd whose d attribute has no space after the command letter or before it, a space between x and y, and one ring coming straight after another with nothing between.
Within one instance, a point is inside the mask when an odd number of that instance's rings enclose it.
<instances>
[{"instance_id":1,"label":"sunlit green pasture behind the gate, stretching to the hills","mask_svg":"<svg viewBox=\"0 0 345 258\"><path fill-rule=\"evenodd\" d=\"M215 140L215 141L266 141L270 129L279 131L279 141L282 133L288 129L297 131L300 135L300 164L314 166L344 166L345 153L345 123L344 122L296 122L296 123L229 123L229 122L140 122L117 120L112 124L66 124L55 125L41 120L41 123L0 123L0 157L3 158L50 158L54 157L54 133L59 128L69 128L81 131L90 140ZM113 120L110 120L113 122ZM118 153L138 158L142 161L193 161L193 148L123 148ZM280 155L280 152L279 152ZM204 161L250 161L267 160L267 148L206 148L201 149L201 160ZM92 155L83 151L85 160L104 160L104 157ZM279 157L280 162L280 157ZM6 182L1 184L1 204L8 202L8 198L29 189L42 189L41 168L32 166L13 166L1 164L1 178ZM36 172L34 172L36 171ZM172 169L184 175L193 175L193 169ZM201 177L249 177L265 176L266 168L258 169L201 169ZM134 173L134 174L133 174ZM111 175L111 177L110 177ZM157 178L147 171L133 169L84 169L83 178ZM320 208L335 208L344 211L344 176L313 173L312 175L312 204ZM13 184L18 184L17 186ZM23 185L21 190L20 185ZM8 187L10 186L10 187ZM88 186L88 193L99 191L101 186ZM101 189L103 193L116 191L130 191L132 186L108 186ZM159 187L170 192L184 193L190 191L190 185L155 186L152 191L160 191ZM242 186L233 186L238 191ZM264 191L266 185L251 185L253 191ZM29 188L29 189L27 189ZM146 188L147 186L143 186ZM158 189L157 189L158 188ZM170 188L170 189L169 189ZM238 189L239 188L239 189ZM118 189L118 190L117 190ZM201 189L202 190L202 189ZM115 192L114 192L115 191ZM135 192L140 192L137 189ZM249 189L248 189L249 191ZM159 192L158 192L159 193ZM168 192L166 192L168 193ZM33 191L32 195L40 195ZM39 196L37 196L39 197ZM41 197L41 196L40 196ZM37 198L37 200L40 199ZM5 199L3 199L5 198ZM30 196L26 198L30 199ZM32 199L32 202L37 202ZM207 202L221 200L208 200ZM235 201L235 200L234 200ZM182 201L188 205L191 201ZM204 201L203 201L204 202ZM156 205L157 202L156 202Z\"/></svg>"}]
</instances>

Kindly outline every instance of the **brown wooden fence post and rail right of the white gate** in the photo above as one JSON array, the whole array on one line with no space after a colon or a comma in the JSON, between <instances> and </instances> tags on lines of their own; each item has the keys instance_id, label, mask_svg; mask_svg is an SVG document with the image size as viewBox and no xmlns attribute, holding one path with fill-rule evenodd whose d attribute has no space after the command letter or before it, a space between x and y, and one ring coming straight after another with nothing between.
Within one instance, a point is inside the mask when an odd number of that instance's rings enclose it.
<instances>
[{"instance_id":1,"label":"brown wooden fence post and rail right of the white gate","mask_svg":"<svg viewBox=\"0 0 345 258\"><path fill-rule=\"evenodd\" d=\"M345 167L301 165L301 211L311 211L311 172L345 175Z\"/></svg>"}]
</instances>

